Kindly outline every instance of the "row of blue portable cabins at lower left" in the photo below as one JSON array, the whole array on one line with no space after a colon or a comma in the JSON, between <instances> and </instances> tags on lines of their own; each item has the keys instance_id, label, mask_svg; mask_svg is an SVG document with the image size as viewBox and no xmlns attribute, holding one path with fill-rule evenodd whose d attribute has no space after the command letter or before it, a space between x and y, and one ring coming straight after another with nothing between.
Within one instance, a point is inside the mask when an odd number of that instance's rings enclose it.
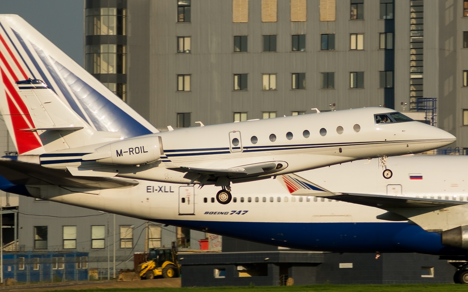
<instances>
[{"instance_id":1,"label":"row of blue portable cabins at lower left","mask_svg":"<svg viewBox=\"0 0 468 292\"><path fill-rule=\"evenodd\" d=\"M88 280L88 253L4 252L3 278L13 278L23 283Z\"/></svg>"}]
</instances>

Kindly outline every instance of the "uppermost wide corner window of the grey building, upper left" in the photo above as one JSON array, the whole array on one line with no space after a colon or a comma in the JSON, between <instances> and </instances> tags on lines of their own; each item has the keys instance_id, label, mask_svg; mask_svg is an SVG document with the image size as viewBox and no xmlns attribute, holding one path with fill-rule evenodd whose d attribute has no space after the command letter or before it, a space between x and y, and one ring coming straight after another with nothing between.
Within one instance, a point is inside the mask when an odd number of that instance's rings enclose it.
<instances>
[{"instance_id":1,"label":"uppermost wide corner window of the grey building, upper left","mask_svg":"<svg viewBox=\"0 0 468 292\"><path fill-rule=\"evenodd\" d=\"M86 8L86 35L125 36L125 8Z\"/></svg>"}]
</instances>

